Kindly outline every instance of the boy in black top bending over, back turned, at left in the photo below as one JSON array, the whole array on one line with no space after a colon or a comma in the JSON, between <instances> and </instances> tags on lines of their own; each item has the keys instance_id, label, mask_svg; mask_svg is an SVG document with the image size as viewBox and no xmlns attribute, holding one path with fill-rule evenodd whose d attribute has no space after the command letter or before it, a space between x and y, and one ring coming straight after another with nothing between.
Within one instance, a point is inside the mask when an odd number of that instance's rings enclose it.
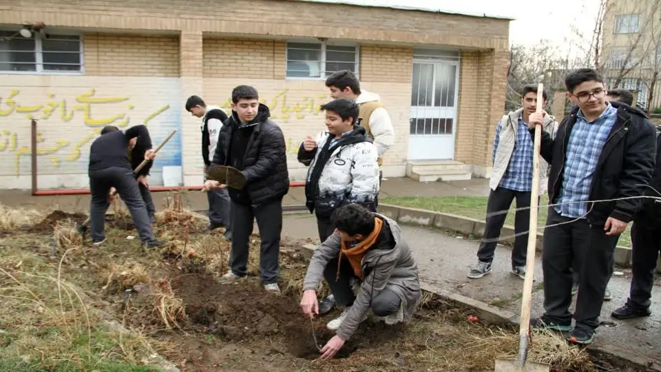
<instances>
[{"instance_id":1,"label":"boy in black top bending over, back turned, at left","mask_svg":"<svg viewBox=\"0 0 661 372\"><path fill-rule=\"evenodd\" d=\"M140 195L138 182L128 158L129 146L135 145L136 137L143 137L145 146L151 147L149 131L145 125L130 127L126 134L112 125L103 127L101 136L96 138L90 147L90 229L94 245L105 242L105 211L108 209L108 194L113 187L131 212L143 246L155 248L161 245L151 230L145 200ZM154 160L155 157L153 149L145 150L144 159Z\"/></svg>"}]
</instances>

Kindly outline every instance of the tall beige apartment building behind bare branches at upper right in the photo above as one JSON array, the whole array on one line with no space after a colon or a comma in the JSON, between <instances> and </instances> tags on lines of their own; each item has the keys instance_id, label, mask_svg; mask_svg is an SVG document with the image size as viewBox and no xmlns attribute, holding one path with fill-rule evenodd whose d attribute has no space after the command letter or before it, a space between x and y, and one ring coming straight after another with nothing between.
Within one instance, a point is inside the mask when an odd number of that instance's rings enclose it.
<instances>
[{"instance_id":1,"label":"tall beige apartment building behind bare branches at upper right","mask_svg":"<svg viewBox=\"0 0 661 372\"><path fill-rule=\"evenodd\" d=\"M608 86L632 90L638 107L661 113L661 0L608 0L602 27Z\"/></svg>"}]
</instances>

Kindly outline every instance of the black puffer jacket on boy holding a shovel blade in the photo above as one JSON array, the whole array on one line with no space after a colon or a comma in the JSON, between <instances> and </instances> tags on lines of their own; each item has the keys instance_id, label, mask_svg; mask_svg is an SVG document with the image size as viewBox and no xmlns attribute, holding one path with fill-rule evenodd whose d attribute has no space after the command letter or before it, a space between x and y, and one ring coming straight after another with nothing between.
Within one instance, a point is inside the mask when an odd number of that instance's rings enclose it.
<instances>
[{"instance_id":1,"label":"black puffer jacket on boy holding a shovel blade","mask_svg":"<svg viewBox=\"0 0 661 372\"><path fill-rule=\"evenodd\" d=\"M269 107L260 103L257 116L246 125L251 125L252 134L246 144L243 162L238 168L246 176L246 186L250 203L259 205L282 198L289 191L289 172L284 136L280 127L269 120ZM211 165L230 165L231 144L234 136L240 135L240 121L232 112L220 130L216 154ZM228 188L229 196L235 203L242 203L240 190Z\"/></svg>"}]
</instances>

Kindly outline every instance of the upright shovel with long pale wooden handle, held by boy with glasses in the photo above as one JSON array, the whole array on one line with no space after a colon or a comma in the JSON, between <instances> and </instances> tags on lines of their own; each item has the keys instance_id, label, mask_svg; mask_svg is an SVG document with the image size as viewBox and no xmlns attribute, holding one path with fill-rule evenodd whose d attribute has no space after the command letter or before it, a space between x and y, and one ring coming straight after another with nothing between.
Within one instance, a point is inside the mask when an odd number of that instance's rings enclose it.
<instances>
[{"instance_id":1,"label":"upright shovel with long pale wooden handle, held by boy with glasses","mask_svg":"<svg viewBox=\"0 0 661 372\"><path fill-rule=\"evenodd\" d=\"M542 112L542 97L544 85L537 85L536 112ZM530 344L530 307L532 300L532 280L535 269L535 245L537 242L537 207L539 183L539 147L541 145L542 128L535 126L534 152L532 156L532 189L530 190L530 227L528 230L528 247L525 258L525 279L523 280L523 297L521 298L521 324L518 331L518 358L516 360L496 359L496 372L527 371L548 372L549 364L527 362L528 345Z\"/></svg>"}]
</instances>

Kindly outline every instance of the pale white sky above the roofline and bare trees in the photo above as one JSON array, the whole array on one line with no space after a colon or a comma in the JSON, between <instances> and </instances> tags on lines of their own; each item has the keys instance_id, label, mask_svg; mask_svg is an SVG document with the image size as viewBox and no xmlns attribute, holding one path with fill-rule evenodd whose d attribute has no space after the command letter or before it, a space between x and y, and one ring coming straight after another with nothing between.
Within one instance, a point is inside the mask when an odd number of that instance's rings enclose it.
<instances>
[{"instance_id":1,"label":"pale white sky above the roofline and bare trees","mask_svg":"<svg viewBox=\"0 0 661 372\"><path fill-rule=\"evenodd\" d=\"M319 0L317 0L319 1ZM531 45L548 39L558 48L571 50L578 32L588 42L594 30L599 0L553 0L545 3L523 0L321 0L364 5L391 5L487 14L513 18L510 43ZM544 8L537 8L544 5ZM535 10L541 9L541 10Z\"/></svg>"}]
</instances>

